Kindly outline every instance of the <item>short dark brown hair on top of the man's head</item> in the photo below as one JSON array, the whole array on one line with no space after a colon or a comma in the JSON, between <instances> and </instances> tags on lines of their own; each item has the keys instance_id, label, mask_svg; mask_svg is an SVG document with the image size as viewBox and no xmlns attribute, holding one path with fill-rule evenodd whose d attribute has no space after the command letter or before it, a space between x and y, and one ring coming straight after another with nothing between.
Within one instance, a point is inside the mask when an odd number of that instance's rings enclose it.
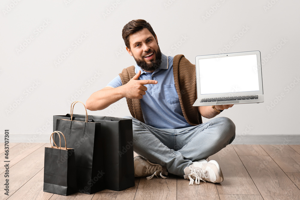
<instances>
[{"instance_id":1,"label":"short dark brown hair on top of the man's head","mask_svg":"<svg viewBox=\"0 0 300 200\"><path fill-rule=\"evenodd\" d=\"M143 28L147 28L150 31L150 33L153 35L153 37L155 38L155 32L153 31L151 25L143 19L132 20L123 27L122 37L125 42L125 45L129 49L130 49L129 36L131 34L134 34L137 31L142 30Z\"/></svg>"}]
</instances>

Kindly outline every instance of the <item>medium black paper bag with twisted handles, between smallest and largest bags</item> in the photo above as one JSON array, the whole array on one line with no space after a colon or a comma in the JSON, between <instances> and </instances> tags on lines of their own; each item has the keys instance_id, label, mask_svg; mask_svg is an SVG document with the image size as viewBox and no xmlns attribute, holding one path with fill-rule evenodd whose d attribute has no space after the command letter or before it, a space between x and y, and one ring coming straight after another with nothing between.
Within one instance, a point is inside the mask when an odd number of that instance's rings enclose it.
<instances>
[{"instance_id":1,"label":"medium black paper bag with twisted handles, between smallest and largest bags","mask_svg":"<svg viewBox=\"0 0 300 200\"><path fill-rule=\"evenodd\" d=\"M77 102L73 103L75 105ZM71 115L73 108L71 105ZM86 109L85 113L84 121L57 119L55 129L63 132L70 148L75 149L78 192L92 194L105 189L103 139L101 123L87 122ZM58 138L55 137L54 141L57 142Z\"/></svg>"}]
</instances>

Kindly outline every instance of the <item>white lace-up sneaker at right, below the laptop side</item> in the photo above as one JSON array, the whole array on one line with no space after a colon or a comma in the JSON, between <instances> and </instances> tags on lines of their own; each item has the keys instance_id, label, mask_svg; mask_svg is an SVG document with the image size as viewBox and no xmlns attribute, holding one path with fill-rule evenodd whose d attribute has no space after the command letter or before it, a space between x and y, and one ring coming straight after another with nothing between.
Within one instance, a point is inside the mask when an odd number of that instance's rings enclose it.
<instances>
[{"instance_id":1,"label":"white lace-up sneaker at right, below the laptop side","mask_svg":"<svg viewBox=\"0 0 300 200\"><path fill-rule=\"evenodd\" d=\"M193 162L190 166L184 168L184 178L190 179L190 184L200 184L201 181L212 183L221 183L223 174L219 164L215 160L207 162L204 159Z\"/></svg>"}]
</instances>

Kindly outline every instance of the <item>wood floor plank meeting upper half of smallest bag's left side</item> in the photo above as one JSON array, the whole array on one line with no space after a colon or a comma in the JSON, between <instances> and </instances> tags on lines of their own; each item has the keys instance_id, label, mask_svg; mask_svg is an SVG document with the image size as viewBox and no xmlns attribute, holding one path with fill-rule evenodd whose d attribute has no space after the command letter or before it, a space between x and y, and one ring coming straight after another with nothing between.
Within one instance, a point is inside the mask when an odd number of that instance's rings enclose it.
<instances>
[{"instance_id":1,"label":"wood floor plank meeting upper half of smallest bag's left side","mask_svg":"<svg viewBox=\"0 0 300 200\"><path fill-rule=\"evenodd\" d=\"M29 181L33 176L35 176L41 169L44 168L44 152L45 147L49 147L50 144L38 148L32 154L20 160L14 166L9 168L9 186L10 190L16 191L22 187L27 181ZM0 175L4 176L4 173ZM0 185L4 184L4 178L0 179ZM0 188L3 192L4 188Z\"/></svg>"}]
</instances>

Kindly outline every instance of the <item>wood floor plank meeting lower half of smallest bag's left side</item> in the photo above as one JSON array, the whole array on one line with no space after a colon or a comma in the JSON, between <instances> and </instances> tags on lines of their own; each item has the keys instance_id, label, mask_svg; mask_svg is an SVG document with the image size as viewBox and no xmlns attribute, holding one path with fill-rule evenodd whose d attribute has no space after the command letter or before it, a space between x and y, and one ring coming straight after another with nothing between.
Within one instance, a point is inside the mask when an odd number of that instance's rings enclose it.
<instances>
[{"instance_id":1,"label":"wood floor plank meeting lower half of smallest bag's left side","mask_svg":"<svg viewBox=\"0 0 300 200\"><path fill-rule=\"evenodd\" d=\"M53 195L51 193L43 192L44 184L44 169L41 169L34 177L32 177L26 184L24 184L19 190L17 190L8 199L35 199L43 200L50 199Z\"/></svg>"}]
</instances>

